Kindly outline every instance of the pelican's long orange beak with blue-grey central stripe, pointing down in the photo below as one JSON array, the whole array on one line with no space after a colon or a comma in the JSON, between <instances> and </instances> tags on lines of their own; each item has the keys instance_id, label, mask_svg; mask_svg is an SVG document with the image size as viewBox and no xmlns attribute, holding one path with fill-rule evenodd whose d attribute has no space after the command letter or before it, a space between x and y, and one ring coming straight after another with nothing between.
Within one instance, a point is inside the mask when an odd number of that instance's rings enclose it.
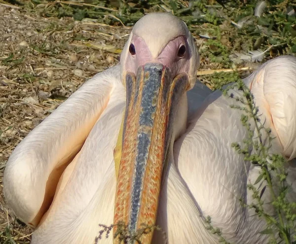
<instances>
[{"instance_id":1,"label":"pelican's long orange beak with blue-grey central stripe, pointing down","mask_svg":"<svg viewBox=\"0 0 296 244\"><path fill-rule=\"evenodd\" d=\"M172 77L169 68L148 63L139 67L137 75L128 72L125 83L113 232L117 230L116 224L123 222L130 233L137 233L143 227L155 225L174 115L189 82L185 73ZM141 243L151 243L152 236L152 231L142 235ZM120 243L118 237L113 243Z\"/></svg>"}]
</instances>

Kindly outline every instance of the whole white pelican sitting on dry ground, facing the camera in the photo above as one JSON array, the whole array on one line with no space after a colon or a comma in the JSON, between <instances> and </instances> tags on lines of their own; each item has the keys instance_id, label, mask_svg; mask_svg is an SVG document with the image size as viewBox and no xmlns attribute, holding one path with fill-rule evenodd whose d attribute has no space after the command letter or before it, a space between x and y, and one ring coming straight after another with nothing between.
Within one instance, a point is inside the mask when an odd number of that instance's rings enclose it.
<instances>
[{"instance_id":1,"label":"whole white pelican sitting on dry ground, facing the camera","mask_svg":"<svg viewBox=\"0 0 296 244\"><path fill-rule=\"evenodd\" d=\"M169 244L217 244L208 215L228 242L268 243L259 234L264 220L240 202L252 203L247 184L260 170L231 147L249 133L242 111L230 108L239 102L196 83L198 66L185 23L148 14L135 24L120 65L87 81L19 143L4 194L35 229L33 244L91 244L99 224L120 221L132 233L157 224ZM268 61L244 82L276 136L271 150L293 160L296 58ZM116 229L98 243L119 243ZM140 240L164 242L156 230Z\"/></svg>"}]
</instances>

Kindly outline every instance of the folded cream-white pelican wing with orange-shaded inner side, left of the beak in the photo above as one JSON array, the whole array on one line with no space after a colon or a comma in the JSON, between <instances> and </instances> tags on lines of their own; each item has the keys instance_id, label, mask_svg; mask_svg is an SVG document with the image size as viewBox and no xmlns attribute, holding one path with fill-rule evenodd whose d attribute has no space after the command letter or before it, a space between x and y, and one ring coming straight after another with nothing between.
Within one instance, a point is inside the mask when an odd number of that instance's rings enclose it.
<instances>
[{"instance_id":1,"label":"folded cream-white pelican wing with orange-shaded inner side, left of the beak","mask_svg":"<svg viewBox=\"0 0 296 244\"><path fill-rule=\"evenodd\" d=\"M36 227L65 168L106 108L120 67L87 81L39 124L11 154L4 174L5 198L15 214Z\"/></svg>"}]
</instances>

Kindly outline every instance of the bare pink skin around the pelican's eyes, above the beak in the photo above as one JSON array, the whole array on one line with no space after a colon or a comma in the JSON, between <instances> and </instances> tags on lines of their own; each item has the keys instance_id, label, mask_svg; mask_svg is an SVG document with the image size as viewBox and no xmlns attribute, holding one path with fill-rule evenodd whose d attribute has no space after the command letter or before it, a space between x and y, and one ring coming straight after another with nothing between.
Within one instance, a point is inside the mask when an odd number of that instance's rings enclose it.
<instances>
[{"instance_id":1,"label":"bare pink skin around the pelican's eyes, above the beak","mask_svg":"<svg viewBox=\"0 0 296 244\"><path fill-rule=\"evenodd\" d=\"M136 54L132 55L130 52L128 52L125 71L131 71L136 74L140 66L143 66L147 63L155 63L168 67L172 71L173 77L180 73L188 74L191 53L185 36L179 36L171 40L163 48L157 58L152 57L148 46L140 36L134 35L132 37L131 44L134 44ZM178 51L182 45L185 45L186 48L185 55L183 57L179 57Z\"/></svg>"}]
</instances>

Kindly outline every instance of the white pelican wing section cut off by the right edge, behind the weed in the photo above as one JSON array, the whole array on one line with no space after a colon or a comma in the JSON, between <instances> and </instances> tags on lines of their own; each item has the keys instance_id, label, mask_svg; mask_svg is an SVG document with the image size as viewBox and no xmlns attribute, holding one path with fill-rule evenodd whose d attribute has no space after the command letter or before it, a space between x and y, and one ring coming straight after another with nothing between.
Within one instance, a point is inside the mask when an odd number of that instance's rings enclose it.
<instances>
[{"instance_id":1,"label":"white pelican wing section cut off by the right edge, behind the weed","mask_svg":"<svg viewBox=\"0 0 296 244\"><path fill-rule=\"evenodd\" d=\"M255 96L265 126L273 130L279 150L296 157L296 58L280 56L245 79Z\"/></svg>"}]
</instances>

